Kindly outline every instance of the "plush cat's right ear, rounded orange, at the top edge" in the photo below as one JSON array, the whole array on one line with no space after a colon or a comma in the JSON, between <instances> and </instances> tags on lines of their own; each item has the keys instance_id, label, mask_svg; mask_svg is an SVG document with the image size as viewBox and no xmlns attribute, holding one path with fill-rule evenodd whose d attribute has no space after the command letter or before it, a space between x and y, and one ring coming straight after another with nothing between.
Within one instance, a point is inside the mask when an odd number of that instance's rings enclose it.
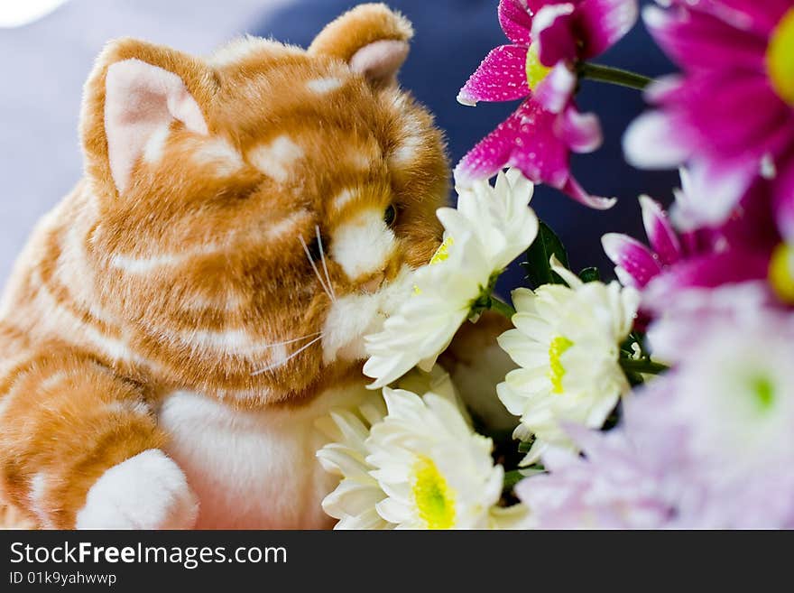
<instances>
[{"instance_id":1,"label":"plush cat's right ear, rounded orange, at the top edge","mask_svg":"<svg viewBox=\"0 0 794 593\"><path fill-rule=\"evenodd\" d=\"M397 81L408 57L411 23L385 5L359 5L329 23L309 46L311 54L346 61L376 86Z\"/></svg>"}]
</instances>

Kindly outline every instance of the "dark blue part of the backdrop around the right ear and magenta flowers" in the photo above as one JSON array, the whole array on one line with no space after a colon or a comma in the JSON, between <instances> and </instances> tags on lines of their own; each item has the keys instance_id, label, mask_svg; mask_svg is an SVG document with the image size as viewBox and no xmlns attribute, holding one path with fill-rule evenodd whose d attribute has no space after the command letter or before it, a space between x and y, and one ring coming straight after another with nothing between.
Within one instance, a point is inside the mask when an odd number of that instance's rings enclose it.
<instances>
[{"instance_id":1,"label":"dark blue part of the backdrop around the right ear and magenta flowers","mask_svg":"<svg viewBox=\"0 0 794 593\"><path fill-rule=\"evenodd\" d=\"M350 0L301 0L269 15L253 32L307 46L326 23L356 4ZM496 18L498 2L391 0L387 4L411 19L416 30L411 55L402 69L402 85L411 89L436 115L439 126L447 133L449 152L455 163L517 106L511 102L463 107L455 98L487 52L508 42ZM597 61L649 76L673 70L642 23ZM577 100L582 110L593 110L601 117L605 143L596 153L574 156L575 175L586 190L615 196L618 204L606 212L595 211L580 206L559 191L540 187L532 206L568 247L573 268L598 265L604 273L611 274L611 264L601 249L601 235L621 230L642 237L637 197L648 193L669 201L671 188L678 184L678 175L636 171L623 161L621 136L626 125L644 108L641 93L585 82ZM501 288L521 282L521 271L514 269L506 275Z\"/></svg>"}]
</instances>

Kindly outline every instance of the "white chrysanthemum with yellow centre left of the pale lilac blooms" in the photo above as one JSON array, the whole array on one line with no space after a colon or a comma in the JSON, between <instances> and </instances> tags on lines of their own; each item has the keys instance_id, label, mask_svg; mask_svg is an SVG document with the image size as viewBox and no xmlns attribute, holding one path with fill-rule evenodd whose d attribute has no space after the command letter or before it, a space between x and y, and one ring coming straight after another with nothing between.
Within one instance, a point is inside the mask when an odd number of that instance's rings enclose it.
<instances>
[{"instance_id":1,"label":"white chrysanthemum with yellow centre left of the pale lilac blooms","mask_svg":"<svg viewBox=\"0 0 794 593\"><path fill-rule=\"evenodd\" d=\"M600 428L629 390L619 363L640 295L618 283L583 283L552 256L568 286L545 284L512 292L517 313L499 345L521 368L497 386L507 409L521 416L515 436L534 444L523 463L549 445L572 448L561 423Z\"/></svg>"}]
</instances>

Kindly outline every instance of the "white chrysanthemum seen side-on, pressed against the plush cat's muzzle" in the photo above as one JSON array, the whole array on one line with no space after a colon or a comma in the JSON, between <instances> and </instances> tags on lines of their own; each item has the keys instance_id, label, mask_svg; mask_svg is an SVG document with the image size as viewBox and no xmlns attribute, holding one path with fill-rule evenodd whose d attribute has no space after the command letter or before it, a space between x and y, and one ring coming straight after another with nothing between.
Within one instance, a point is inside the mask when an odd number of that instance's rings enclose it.
<instances>
[{"instance_id":1,"label":"white chrysanthemum seen side-on, pressed against the plush cat's muzzle","mask_svg":"<svg viewBox=\"0 0 794 593\"><path fill-rule=\"evenodd\" d=\"M444 243L414 274L415 291L385 321L383 331L366 338L370 354L365 375L379 388L419 365L433 365L460 325L483 297L490 296L499 273L521 255L538 233L538 218L528 207L533 186L517 170L460 190L457 209L439 208ZM487 303L485 303L487 304Z\"/></svg>"}]
</instances>

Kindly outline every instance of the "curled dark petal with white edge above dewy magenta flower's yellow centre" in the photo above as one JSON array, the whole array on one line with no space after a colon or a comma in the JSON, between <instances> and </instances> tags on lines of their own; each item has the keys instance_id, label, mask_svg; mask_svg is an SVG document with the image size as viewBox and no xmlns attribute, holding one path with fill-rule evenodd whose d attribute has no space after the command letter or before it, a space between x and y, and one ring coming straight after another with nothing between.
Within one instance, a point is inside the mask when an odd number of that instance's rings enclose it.
<instances>
[{"instance_id":1,"label":"curled dark petal with white edge above dewy magenta flower's yellow centre","mask_svg":"<svg viewBox=\"0 0 794 593\"><path fill-rule=\"evenodd\" d=\"M532 39L538 43L538 57L544 66L577 60L575 11L572 3L549 4L533 16Z\"/></svg>"}]
</instances>

